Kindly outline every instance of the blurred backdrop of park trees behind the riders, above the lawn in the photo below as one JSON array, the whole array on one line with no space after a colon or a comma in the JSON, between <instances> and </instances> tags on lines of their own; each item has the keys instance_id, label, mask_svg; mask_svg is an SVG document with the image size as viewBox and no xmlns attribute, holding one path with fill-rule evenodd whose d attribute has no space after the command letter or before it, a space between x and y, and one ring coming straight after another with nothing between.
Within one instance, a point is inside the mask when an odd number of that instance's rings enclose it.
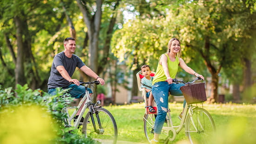
<instances>
[{"instance_id":1,"label":"blurred backdrop of park trees behind the riders, above the lawn","mask_svg":"<svg viewBox=\"0 0 256 144\"><path fill-rule=\"evenodd\" d=\"M1 0L0 25L2 90L47 92L54 55L74 37L75 54L106 80L98 92L129 104L141 94L141 65L155 71L176 37L182 59L206 78L209 103L256 103L255 0ZM181 69L177 77L193 78ZM79 70L73 78L94 80Z\"/></svg>"}]
</instances>

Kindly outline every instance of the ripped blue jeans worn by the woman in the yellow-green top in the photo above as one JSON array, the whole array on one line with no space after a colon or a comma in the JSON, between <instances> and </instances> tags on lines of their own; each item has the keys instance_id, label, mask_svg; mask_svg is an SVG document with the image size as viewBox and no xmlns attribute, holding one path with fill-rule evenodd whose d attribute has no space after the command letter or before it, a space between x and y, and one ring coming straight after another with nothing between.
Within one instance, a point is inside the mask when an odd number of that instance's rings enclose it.
<instances>
[{"instance_id":1,"label":"ripped blue jeans worn by the woman in the yellow-green top","mask_svg":"<svg viewBox=\"0 0 256 144\"><path fill-rule=\"evenodd\" d=\"M157 116L155 118L154 133L161 134L162 126L167 115L168 92L174 96L182 96L181 86L184 84L168 84L166 81L157 82L152 87L152 94L157 105ZM186 104L186 102L184 102ZM184 106L183 104L183 106Z\"/></svg>"}]
</instances>

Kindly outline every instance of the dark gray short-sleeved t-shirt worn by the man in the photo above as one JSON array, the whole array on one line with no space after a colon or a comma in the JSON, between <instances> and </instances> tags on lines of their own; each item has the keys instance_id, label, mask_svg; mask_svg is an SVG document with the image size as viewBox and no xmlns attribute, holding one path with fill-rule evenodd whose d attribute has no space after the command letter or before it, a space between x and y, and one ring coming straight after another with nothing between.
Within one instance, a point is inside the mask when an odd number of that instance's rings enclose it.
<instances>
[{"instance_id":1,"label":"dark gray short-sleeved t-shirt worn by the man","mask_svg":"<svg viewBox=\"0 0 256 144\"><path fill-rule=\"evenodd\" d=\"M50 77L48 79L48 89L56 87L67 87L69 85L69 82L66 79L64 79L56 69L56 67L59 65L64 66L69 76L72 77L75 68L81 68L85 64L75 54L73 54L71 58L68 58L64 52L60 52L57 55L55 55L53 65L51 68Z\"/></svg>"}]
</instances>

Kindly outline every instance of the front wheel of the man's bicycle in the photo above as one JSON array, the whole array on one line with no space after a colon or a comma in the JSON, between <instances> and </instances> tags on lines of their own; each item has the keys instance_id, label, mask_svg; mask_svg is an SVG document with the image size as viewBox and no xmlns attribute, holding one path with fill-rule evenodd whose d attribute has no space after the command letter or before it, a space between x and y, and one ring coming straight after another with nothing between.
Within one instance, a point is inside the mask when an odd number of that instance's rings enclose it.
<instances>
[{"instance_id":1,"label":"front wheel of the man's bicycle","mask_svg":"<svg viewBox=\"0 0 256 144\"><path fill-rule=\"evenodd\" d=\"M116 144L117 126L112 114L104 108L94 108L93 118L88 112L84 118L82 133L101 144ZM95 129L94 129L95 124Z\"/></svg>"}]
</instances>

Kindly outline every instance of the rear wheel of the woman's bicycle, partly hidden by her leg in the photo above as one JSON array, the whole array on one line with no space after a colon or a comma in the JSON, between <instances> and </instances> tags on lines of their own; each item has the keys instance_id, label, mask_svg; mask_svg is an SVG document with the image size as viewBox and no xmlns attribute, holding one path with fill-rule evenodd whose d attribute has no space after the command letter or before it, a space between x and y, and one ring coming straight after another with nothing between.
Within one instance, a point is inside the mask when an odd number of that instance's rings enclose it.
<instances>
[{"instance_id":1,"label":"rear wheel of the woman's bicycle, partly hidden by her leg","mask_svg":"<svg viewBox=\"0 0 256 144\"><path fill-rule=\"evenodd\" d=\"M154 138L154 125L155 125L155 114L144 114L143 121L144 121L144 133L148 142ZM170 126L169 116L166 115L166 120L163 126ZM163 143L168 137L167 131L162 130L161 135L159 135L159 142Z\"/></svg>"}]
</instances>

